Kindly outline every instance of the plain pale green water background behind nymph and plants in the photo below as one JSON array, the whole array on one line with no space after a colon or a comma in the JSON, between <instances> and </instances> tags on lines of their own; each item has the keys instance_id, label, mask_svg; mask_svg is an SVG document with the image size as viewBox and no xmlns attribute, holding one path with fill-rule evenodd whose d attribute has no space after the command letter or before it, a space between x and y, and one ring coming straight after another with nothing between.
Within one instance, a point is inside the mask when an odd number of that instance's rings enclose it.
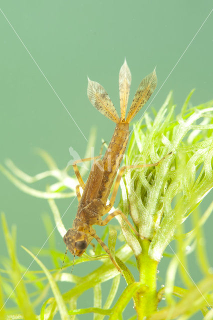
<instances>
[{"instance_id":1,"label":"plain pale green water background behind nymph and plants","mask_svg":"<svg viewBox=\"0 0 213 320\"><path fill-rule=\"evenodd\" d=\"M101 138L110 140L114 124L89 103L87 75L105 87L118 110L118 72L126 57L132 74L130 99L140 80L155 65L156 93L211 6L210 0L1 0L1 10L83 134L0 12L0 162L11 158L19 168L33 175L46 168L34 153L34 147L40 147L63 168L70 160L69 146L80 157L84 156L91 126L97 128L95 151L98 153ZM152 105L157 109L170 89L178 108L192 88L196 88L193 104L212 98L212 15L154 98ZM45 183L36 184L37 189L44 186ZM0 188L0 210L5 212L9 226L17 225L19 261L28 265L31 258L20 245L42 246L46 234L41 216L44 212L50 214L50 209L46 200L22 193L2 174ZM211 196L212 193L204 199L202 210ZM70 199L57 201L61 214L69 203ZM66 228L71 226L76 206L75 201L63 218ZM6 249L0 232L3 255ZM211 233L212 218L205 226L209 255ZM62 239L55 235L58 249L63 250ZM195 263L190 274L196 281L200 274ZM35 262L32 268L36 268ZM74 271L85 272L81 266L76 266ZM122 282L124 287L123 279ZM89 302L84 306L89 306ZM129 308L127 312L133 311Z\"/></svg>"}]
</instances>

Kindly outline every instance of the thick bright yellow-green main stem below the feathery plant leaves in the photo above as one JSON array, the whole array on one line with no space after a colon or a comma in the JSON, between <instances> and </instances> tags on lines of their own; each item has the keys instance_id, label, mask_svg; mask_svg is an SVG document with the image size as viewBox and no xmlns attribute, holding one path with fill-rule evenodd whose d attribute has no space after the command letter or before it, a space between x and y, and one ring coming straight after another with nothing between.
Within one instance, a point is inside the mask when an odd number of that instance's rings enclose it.
<instances>
[{"instance_id":1,"label":"thick bright yellow-green main stem below the feathery plant leaves","mask_svg":"<svg viewBox=\"0 0 213 320\"><path fill-rule=\"evenodd\" d=\"M144 287L134 294L134 307L138 320L143 320L157 309L156 274L158 262L148 255L149 240L141 241L142 252L136 257L139 269L139 282Z\"/></svg>"}]
</instances>

